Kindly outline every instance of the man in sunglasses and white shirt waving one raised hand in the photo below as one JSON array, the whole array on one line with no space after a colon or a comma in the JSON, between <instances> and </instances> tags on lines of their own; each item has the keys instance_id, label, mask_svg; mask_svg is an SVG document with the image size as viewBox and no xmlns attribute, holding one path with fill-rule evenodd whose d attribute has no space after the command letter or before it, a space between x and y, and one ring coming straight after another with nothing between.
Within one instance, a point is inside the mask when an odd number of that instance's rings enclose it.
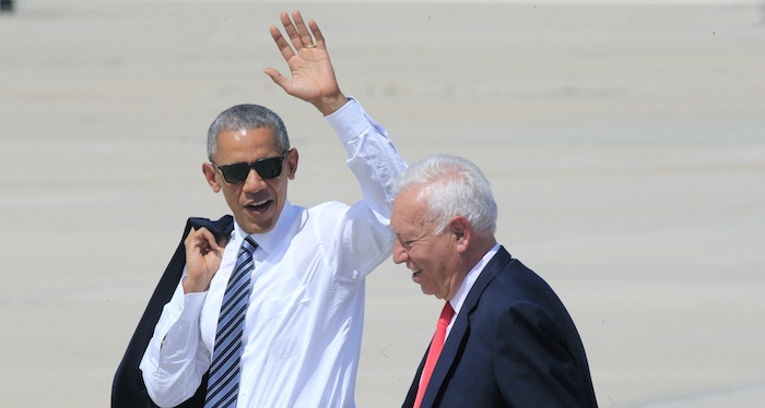
<instances>
[{"instance_id":1,"label":"man in sunglasses and white shirt waving one raised hand","mask_svg":"<svg viewBox=\"0 0 765 408\"><path fill-rule=\"evenodd\" d=\"M392 179L407 165L385 129L341 93L316 23L298 12L292 20L282 13L281 21L286 36L276 27L271 35L292 79L264 72L326 117L364 199L351 206L293 205L287 182L298 153L281 119L257 105L215 119L202 171L226 200L233 228L189 224L183 278L140 364L146 393L160 406L354 405L364 278L392 250ZM228 314L240 307L229 303L237 298L228 289L239 276L242 321ZM115 399L121 398L113 394L113 406Z\"/></svg>"}]
</instances>

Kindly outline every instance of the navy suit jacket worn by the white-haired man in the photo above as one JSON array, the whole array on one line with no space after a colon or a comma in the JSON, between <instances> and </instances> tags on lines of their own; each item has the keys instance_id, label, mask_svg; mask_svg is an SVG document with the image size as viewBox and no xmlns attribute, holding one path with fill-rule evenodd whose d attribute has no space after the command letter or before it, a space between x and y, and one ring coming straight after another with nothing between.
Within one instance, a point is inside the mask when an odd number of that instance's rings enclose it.
<instances>
[{"instance_id":1,"label":"navy suit jacket worn by the white-haired man","mask_svg":"<svg viewBox=\"0 0 765 408\"><path fill-rule=\"evenodd\" d=\"M414 405L423 364L403 407ZM566 308L501 248L457 315L422 407L597 406L585 348Z\"/></svg>"}]
</instances>

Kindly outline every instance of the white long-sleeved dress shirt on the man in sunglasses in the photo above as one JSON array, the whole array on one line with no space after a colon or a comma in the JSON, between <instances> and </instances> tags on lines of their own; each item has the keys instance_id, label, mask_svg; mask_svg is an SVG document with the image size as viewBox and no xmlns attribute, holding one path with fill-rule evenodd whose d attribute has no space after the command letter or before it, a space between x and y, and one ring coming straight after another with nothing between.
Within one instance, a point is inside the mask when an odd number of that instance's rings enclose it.
<instances>
[{"instance_id":1,"label":"white long-sleeved dress shirt on the man in sunglasses","mask_svg":"<svg viewBox=\"0 0 765 408\"><path fill-rule=\"evenodd\" d=\"M258 249L238 407L354 406L364 278L392 250L392 181L407 165L355 99L327 120L348 152L364 200L313 208L287 201L271 231L251 236ZM185 295L178 285L165 305L140 364L157 405L191 397L210 368L223 293L243 240L235 225L210 289Z\"/></svg>"}]
</instances>

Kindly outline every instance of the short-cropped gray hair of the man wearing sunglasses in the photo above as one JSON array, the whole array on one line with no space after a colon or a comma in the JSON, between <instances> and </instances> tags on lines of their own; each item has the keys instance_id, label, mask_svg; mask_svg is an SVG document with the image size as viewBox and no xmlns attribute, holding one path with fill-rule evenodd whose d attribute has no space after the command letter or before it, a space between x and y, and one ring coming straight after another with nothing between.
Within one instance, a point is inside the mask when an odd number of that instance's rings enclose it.
<instances>
[{"instance_id":1,"label":"short-cropped gray hair of the man wearing sunglasses","mask_svg":"<svg viewBox=\"0 0 765 408\"><path fill-rule=\"evenodd\" d=\"M223 132L248 131L270 128L276 137L276 147L290 149L290 137L282 118L273 110L260 105L236 105L217 116L208 130L208 159L217 153L217 135Z\"/></svg>"}]
</instances>

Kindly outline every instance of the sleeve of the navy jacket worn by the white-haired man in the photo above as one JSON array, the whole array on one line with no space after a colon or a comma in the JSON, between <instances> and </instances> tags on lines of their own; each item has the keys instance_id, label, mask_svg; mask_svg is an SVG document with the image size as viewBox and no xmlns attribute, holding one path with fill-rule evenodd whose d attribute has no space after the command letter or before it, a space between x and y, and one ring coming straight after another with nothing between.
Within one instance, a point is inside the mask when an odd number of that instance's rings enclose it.
<instances>
[{"instance_id":1,"label":"sleeve of the navy jacket worn by the white-haired man","mask_svg":"<svg viewBox=\"0 0 765 408\"><path fill-rule=\"evenodd\" d=\"M513 407L580 407L577 369L557 321L519 302L503 311L495 334L495 377Z\"/></svg>"}]
</instances>

